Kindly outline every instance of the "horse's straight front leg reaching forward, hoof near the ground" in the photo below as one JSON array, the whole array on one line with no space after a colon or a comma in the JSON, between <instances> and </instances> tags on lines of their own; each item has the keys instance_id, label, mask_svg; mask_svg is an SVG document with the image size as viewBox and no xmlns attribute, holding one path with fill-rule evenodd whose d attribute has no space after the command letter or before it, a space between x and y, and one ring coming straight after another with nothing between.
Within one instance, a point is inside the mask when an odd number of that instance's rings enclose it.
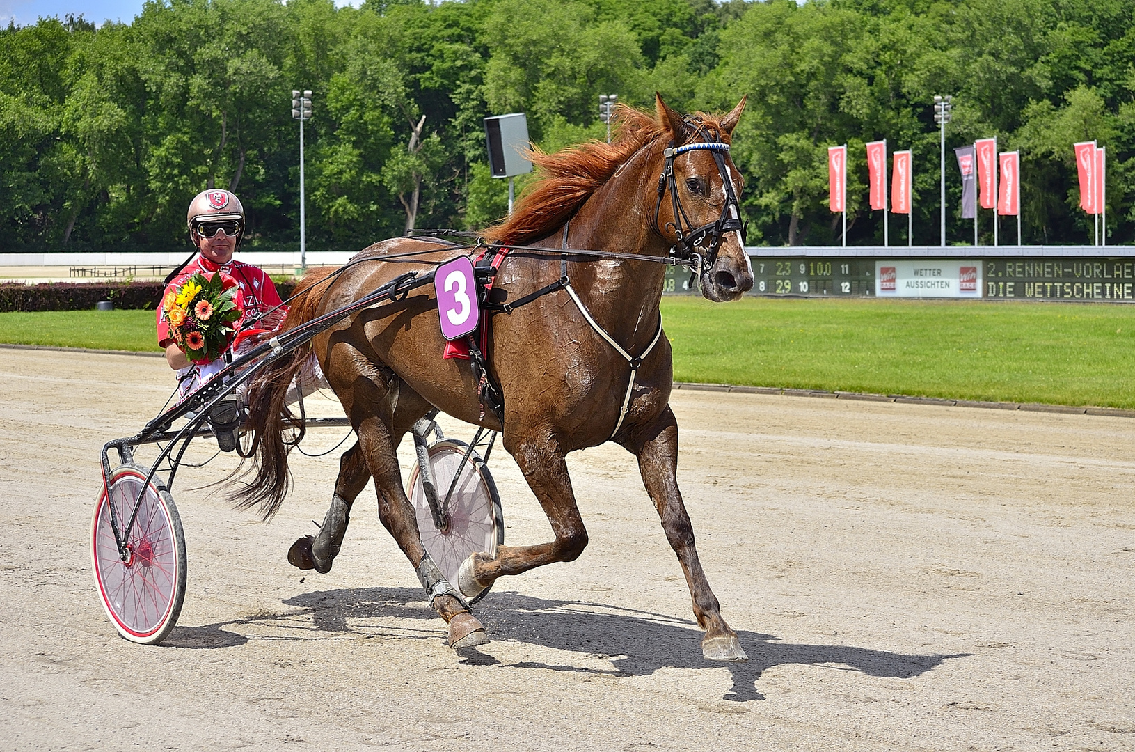
<instances>
[{"instance_id":1,"label":"horse's straight front leg reaching forward, hoof near the ground","mask_svg":"<svg viewBox=\"0 0 1135 752\"><path fill-rule=\"evenodd\" d=\"M629 433L622 443L638 458L642 483L662 518L666 540L686 574L693 616L706 630L701 654L714 661L748 660L737 633L722 618L717 596L709 590L709 582L698 560L693 526L682 503L682 493L678 490L678 421L673 411L667 406L653 421L634 426Z\"/></svg>"}]
</instances>

